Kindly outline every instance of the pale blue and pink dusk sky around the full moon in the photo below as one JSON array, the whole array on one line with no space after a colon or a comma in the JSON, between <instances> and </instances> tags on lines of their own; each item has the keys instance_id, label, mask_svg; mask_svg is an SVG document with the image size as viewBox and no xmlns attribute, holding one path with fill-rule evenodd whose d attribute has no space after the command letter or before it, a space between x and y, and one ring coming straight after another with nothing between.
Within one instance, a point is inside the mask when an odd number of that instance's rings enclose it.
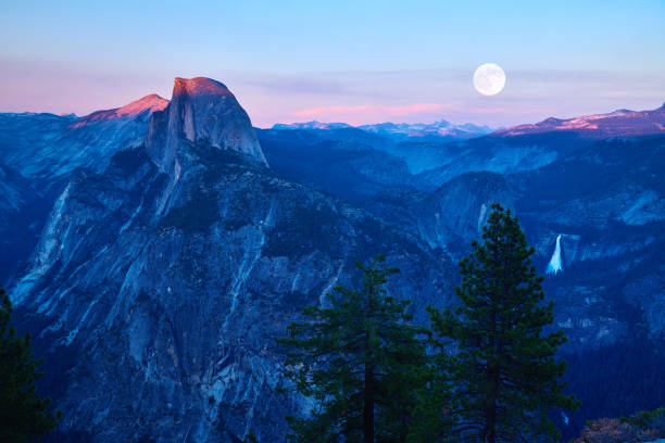
<instances>
[{"instance_id":1,"label":"pale blue and pink dusk sky around the full moon","mask_svg":"<svg viewBox=\"0 0 665 443\"><path fill-rule=\"evenodd\" d=\"M252 123L476 123L655 109L665 0L0 0L0 112L85 115L174 77L223 81ZM479 94L477 66L504 90Z\"/></svg>"}]
</instances>

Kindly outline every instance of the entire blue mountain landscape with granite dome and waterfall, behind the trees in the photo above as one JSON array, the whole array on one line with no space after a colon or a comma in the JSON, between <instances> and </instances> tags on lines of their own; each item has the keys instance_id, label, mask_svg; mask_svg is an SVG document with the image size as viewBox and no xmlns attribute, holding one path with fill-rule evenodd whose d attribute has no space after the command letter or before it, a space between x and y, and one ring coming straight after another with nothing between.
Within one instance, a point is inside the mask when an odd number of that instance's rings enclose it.
<instances>
[{"instance_id":1,"label":"entire blue mountain landscape with granite dome and waterfall, behind the trees","mask_svg":"<svg viewBox=\"0 0 665 443\"><path fill-rule=\"evenodd\" d=\"M284 441L275 338L355 262L454 303L500 202L536 248L582 408L665 397L665 110L474 125L252 128L222 83L176 78L85 117L0 114L0 280L65 419L53 441ZM473 134L473 136L472 136Z\"/></svg>"}]
</instances>

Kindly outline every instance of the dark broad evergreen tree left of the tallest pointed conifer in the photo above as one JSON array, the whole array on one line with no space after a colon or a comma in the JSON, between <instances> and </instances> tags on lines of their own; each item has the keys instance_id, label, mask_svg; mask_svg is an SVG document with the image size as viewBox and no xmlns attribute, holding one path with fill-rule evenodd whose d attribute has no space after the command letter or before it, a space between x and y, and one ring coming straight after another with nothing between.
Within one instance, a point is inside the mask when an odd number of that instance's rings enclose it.
<instances>
[{"instance_id":1,"label":"dark broad evergreen tree left of the tallest pointed conifer","mask_svg":"<svg viewBox=\"0 0 665 443\"><path fill-rule=\"evenodd\" d=\"M407 301L384 284L399 270L378 256L359 290L337 287L325 307L310 306L288 327L287 374L311 401L306 418L288 417L296 442L405 442L424 389L424 328L410 324Z\"/></svg>"}]
</instances>

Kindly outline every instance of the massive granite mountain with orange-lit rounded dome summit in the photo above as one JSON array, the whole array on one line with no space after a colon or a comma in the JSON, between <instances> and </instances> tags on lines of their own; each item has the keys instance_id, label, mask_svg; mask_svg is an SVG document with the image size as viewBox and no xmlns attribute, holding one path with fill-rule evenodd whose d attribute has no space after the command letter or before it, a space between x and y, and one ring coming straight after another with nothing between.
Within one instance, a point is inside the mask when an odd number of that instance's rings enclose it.
<instances>
[{"instance_id":1,"label":"massive granite mountain with orange-lit rounded dome summit","mask_svg":"<svg viewBox=\"0 0 665 443\"><path fill-rule=\"evenodd\" d=\"M421 321L448 303L450 262L276 177L221 84L178 79L174 96L145 145L73 176L11 291L65 412L57 439L281 441L301 403L274 391L275 340L355 261L386 252Z\"/></svg>"}]
</instances>

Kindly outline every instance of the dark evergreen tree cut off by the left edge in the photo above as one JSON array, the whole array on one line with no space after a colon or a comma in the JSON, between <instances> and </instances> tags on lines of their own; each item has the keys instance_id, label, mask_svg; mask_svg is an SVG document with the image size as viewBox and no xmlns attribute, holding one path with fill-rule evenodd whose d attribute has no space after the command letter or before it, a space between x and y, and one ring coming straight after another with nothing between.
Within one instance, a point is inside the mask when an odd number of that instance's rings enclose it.
<instances>
[{"instance_id":1,"label":"dark evergreen tree cut off by the left edge","mask_svg":"<svg viewBox=\"0 0 665 443\"><path fill-rule=\"evenodd\" d=\"M30 351L30 337L17 337L9 326L12 304L0 289L0 442L28 442L47 434L60 421L41 398L35 380L41 364Z\"/></svg>"}]
</instances>

